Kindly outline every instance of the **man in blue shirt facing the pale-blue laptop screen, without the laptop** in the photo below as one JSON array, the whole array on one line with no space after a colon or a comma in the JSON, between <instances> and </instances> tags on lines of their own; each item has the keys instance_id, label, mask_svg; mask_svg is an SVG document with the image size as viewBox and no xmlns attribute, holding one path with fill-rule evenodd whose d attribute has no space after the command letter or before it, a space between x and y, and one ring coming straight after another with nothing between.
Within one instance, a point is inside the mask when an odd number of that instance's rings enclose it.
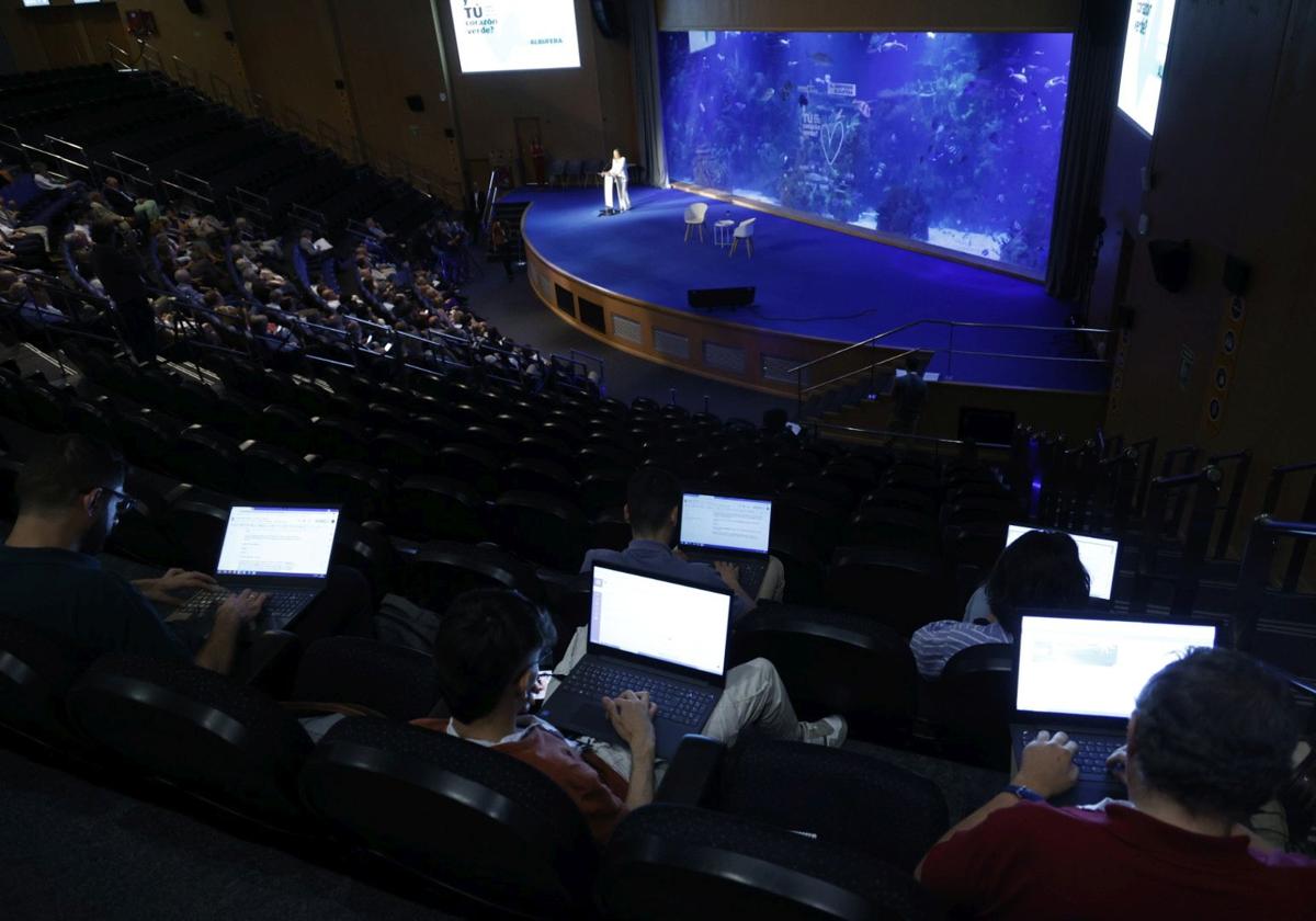
<instances>
[{"instance_id":1,"label":"man in blue shirt facing the pale-blue laptop screen, without the laptop","mask_svg":"<svg viewBox=\"0 0 1316 921\"><path fill-rule=\"evenodd\" d=\"M676 478L657 467L641 467L626 485L626 521L630 522L630 543L625 550L591 550L580 564L582 572L588 572L595 560L600 563L621 563L642 572L658 576L686 579L715 588L725 585L736 593L732 603L732 620L740 620L754 609L758 600L779 601L786 589L786 575L782 562L775 557L769 559L763 584L758 597L753 599L740 584L740 567L719 562L691 563L679 550L672 550L676 537L676 518L680 514L680 484Z\"/></svg>"}]
</instances>

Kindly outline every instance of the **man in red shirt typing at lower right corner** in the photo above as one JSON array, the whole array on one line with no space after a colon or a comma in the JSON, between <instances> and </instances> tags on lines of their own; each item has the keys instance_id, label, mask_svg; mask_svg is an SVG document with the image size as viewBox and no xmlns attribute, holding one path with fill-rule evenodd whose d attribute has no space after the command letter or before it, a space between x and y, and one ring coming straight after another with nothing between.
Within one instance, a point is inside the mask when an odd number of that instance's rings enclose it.
<instances>
[{"instance_id":1,"label":"man in red shirt typing at lower right corner","mask_svg":"<svg viewBox=\"0 0 1316 921\"><path fill-rule=\"evenodd\" d=\"M1194 650L1138 695L1112 757L1129 801L1058 809L1078 745L1038 733L1007 789L916 875L991 918L1316 918L1316 863L1253 846L1242 822L1290 770L1287 683L1249 657Z\"/></svg>"}]
</instances>

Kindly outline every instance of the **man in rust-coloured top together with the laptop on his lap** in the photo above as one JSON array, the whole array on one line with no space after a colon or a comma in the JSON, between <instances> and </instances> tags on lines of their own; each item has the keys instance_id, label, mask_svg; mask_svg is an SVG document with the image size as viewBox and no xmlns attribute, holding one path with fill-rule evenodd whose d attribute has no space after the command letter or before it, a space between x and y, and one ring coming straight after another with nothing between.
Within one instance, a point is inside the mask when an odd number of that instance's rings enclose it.
<instances>
[{"instance_id":1,"label":"man in rust-coloured top together with the laptop on his lap","mask_svg":"<svg viewBox=\"0 0 1316 921\"><path fill-rule=\"evenodd\" d=\"M729 589L604 563L592 572L590 651L550 691L544 718L529 710L557 639L551 618L517 592L476 589L453 601L434 639L451 717L416 724L538 768L571 796L600 843L629 809L653 800L655 762L686 733L730 743L753 725L828 747L845 741L841 717L796 718L769 662L726 668ZM676 620L665 625L651 605Z\"/></svg>"}]
</instances>

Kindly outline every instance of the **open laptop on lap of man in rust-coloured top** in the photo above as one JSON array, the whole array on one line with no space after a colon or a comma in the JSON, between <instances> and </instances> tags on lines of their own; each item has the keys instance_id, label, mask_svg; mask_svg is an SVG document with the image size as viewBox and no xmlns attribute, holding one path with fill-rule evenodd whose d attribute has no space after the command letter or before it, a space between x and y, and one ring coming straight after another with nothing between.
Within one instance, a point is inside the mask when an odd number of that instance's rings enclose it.
<instances>
[{"instance_id":1,"label":"open laptop on lap of man in rust-coloured top","mask_svg":"<svg viewBox=\"0 0 1316 921\"><path fill-rule=\"evenodd\" d=\"M658 704L655 753L670 759L722 695L730 624L730 589L595 563L588 649L541 714L565 733L620 745L601 699L647 691Z\"/></svg>"}]
</instances>

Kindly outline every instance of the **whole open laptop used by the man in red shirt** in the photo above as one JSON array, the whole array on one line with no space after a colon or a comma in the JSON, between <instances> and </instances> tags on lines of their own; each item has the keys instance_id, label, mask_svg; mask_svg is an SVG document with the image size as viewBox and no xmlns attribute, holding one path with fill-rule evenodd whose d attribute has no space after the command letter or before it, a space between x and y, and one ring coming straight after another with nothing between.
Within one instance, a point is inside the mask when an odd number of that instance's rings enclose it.
<instances>
[{"instance_id":1,"label":"whole open laptop used by the man in red shirt","mask_svg":"<svg viewBox=\"0 0 1316 921\"><path fill-rule=\"evenodd\" d=\"M1190 649L1216 645L1215 624L1145 621L1091 612L1023 612L1015 643L1015 764L1038 730L1078 742L1078 784L1058 804L1123 799L1105 759L1124 745L1142 685Z\"/></svg>"}]
</instances>

